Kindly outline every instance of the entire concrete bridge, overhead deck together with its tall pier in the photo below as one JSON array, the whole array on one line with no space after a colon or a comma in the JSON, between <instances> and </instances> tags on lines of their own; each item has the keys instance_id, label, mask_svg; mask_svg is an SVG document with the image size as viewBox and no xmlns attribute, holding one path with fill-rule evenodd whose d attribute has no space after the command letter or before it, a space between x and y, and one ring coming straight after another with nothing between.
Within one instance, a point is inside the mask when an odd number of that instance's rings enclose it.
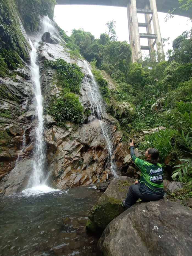
<instances>
[{"instance_id":1,"label":"entire concrete bridge, overhead deck together with its tall pier","mask_svg":"<svg viewBox=\"0 0 192 256\"><path fill-rule=\"evenodd\" d=\"M87 5L109 5L127 7L129 40L132 49L132 62L141 58L141 50L154 51L156 44L157 52L164 57L163 44L160 32L157 12L168 12L176 8L176 14L191 17L191 11L180 12L178 0L57 0L58 4L87 4ZM145 22L139 23L137 14L145 16ZM151 22L153 23L154 34L152 33ZM140 33L139 27L146 27L146 33ZM147 38L148 45L141 45L140 38Z\"/></svg>"}]
</instances>

